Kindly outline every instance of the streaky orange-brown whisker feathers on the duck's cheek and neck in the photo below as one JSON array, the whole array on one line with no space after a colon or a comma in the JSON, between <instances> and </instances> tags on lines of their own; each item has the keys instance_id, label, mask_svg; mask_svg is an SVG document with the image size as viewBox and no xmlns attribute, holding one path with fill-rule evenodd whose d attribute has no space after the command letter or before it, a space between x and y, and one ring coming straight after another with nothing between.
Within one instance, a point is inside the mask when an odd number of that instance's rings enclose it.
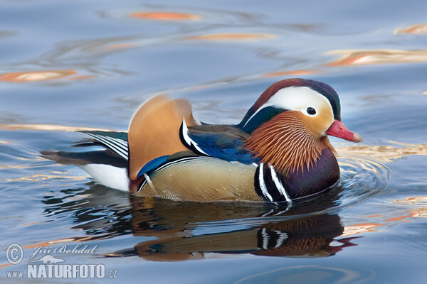
<instances>
[{"instance_id":1,"label":"streaky orange-brown whisker feathers on the duck's cheek and neck","mask_svg":"<svg viewBox=\"0 0 427 284\"><path fill-rule=\"evenodd\" d=\"M300 111L284 111L261 124L245 146L256 158L273 165L279 173L310 170L327 148L335 153L327 136L315 137L302 123Z\"/></svg>"}]
</instances>

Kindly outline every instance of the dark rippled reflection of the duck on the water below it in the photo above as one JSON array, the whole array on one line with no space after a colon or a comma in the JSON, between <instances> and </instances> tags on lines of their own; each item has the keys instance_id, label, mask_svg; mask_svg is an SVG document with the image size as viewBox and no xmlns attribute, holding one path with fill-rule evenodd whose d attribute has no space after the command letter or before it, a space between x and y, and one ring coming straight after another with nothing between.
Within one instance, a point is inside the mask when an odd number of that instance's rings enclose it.
<instances>
[{"instance_id":1,"label":"dark rippled reflection of the duck on the water below it","mask_svg":"<svg viewBox=\"0 0 427 284\"><path fill-rule=\"evenodd\" d=\"M78 194L81 199L60 202L47 197L45 203L50 204L48 215L73 213L73 229L90 235L78 241L125 234L139 241L128 249L103 254L108 257L139 256L150 261L200 259L214 257L213 253L322 257L354 246L354 238L336 239L344 231L339 215L332 212L339 190L291 207L172 202L92 185Z\"/></svg>"}]
</instances>

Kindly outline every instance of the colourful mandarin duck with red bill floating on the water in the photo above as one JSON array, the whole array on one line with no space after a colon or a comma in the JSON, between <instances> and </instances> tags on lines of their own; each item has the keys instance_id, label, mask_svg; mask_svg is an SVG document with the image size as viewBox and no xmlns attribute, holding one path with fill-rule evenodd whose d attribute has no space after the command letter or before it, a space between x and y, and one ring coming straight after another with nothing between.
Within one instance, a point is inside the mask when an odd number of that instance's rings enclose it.
<instances>
[{"instance_id":1,"label":"colourful mandarin duck with red bill floating on the water","mask_svg":"<svg viewBox=\"0 0 427 284\"><path fill-rule=\"evenodd\" d=\"M41 151L77 165L107 187L182 202L297 202L340 179L328 136L355 143L337 92L317 80L286 79L265 89L238 124L195 119L186 99L159 94L125 131L84 131L75 147ZM98 147L93 147L98 146Z\"/></svg>"}]
</instances>

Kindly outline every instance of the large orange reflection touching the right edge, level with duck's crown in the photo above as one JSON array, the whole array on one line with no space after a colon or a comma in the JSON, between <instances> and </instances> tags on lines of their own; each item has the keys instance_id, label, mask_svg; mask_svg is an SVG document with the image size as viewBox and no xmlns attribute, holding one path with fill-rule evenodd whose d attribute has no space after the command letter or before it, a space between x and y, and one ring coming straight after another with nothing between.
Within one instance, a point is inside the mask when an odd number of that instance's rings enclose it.
<instances>
[{"instance_id":1,"label":"large orange reflection touching the right edge, level with duck's crown","mask_svg":"<svg viewBox=\"0 0 427 284\"><path fill-rule=\"evenodd\" d=\"M370 65L427 61L427 50L332 50L327 55L342 55L328 66Z\"/></svg>"}]
</instances>

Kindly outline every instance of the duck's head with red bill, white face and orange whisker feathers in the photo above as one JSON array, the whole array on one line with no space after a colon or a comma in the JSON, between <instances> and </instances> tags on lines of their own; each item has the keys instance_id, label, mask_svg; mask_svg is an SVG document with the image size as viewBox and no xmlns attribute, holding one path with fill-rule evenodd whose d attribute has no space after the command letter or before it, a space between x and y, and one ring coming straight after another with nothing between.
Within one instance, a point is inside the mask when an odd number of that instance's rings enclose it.
<instances>
[{"instance_id":1,"label":"duck's head with red bill, white face and orange whisker feathers","mask_svg":"<svg viewBox=\"0 0 427 284\"><path fill-rule=\"evenodd\" d=\"M341 121L339 97L329 85L303 79L275 82L238 126L250 136L246 148L278 170L310 169L322 151L334 153L327 135L352 142L362 137Z\"/></svg>"}]
</instances>

